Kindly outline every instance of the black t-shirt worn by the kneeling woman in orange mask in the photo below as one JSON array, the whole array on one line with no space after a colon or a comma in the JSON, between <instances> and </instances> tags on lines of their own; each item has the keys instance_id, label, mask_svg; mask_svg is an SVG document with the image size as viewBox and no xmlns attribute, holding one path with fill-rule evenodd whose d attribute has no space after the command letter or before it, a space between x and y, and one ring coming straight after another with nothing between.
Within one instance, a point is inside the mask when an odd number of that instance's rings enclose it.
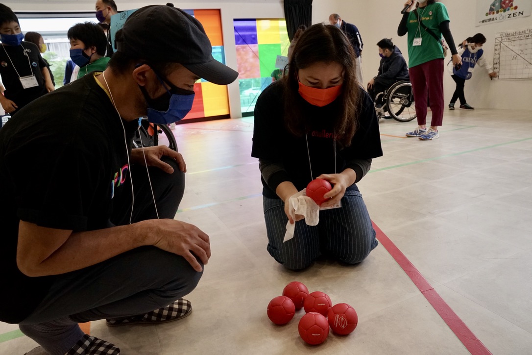
<instances>
[{"instance_id":1,"label":"black t-shirt worn by the kneeling woman in orange mask","mask_svg":"<svg viewBox=\"0 0 532 355\"><path fill-rule=\"evenodd\" d=\"M342 148L336 143L336 169L334 144L334 117L340 100L318 107L298 97L311 130L301 137L289 133L285 126L283 82L275 82L262 92L255 105L255 125L251 156L280 164L286 170L289 181L301 191L309 182L321 174L342 172L347 163L354 159L372 159L383 155L380 145L379 122L368 93L361 91L359 127L353 136L351 146ZM306 139L309 147L307 150ZM309 155L311 164L309 164ZM312 166L312 174L311 174ZM279 196L262 179L262 193L271 199ZM357 189L356 185L348 189Z\"/></svg>"}]
</instances>

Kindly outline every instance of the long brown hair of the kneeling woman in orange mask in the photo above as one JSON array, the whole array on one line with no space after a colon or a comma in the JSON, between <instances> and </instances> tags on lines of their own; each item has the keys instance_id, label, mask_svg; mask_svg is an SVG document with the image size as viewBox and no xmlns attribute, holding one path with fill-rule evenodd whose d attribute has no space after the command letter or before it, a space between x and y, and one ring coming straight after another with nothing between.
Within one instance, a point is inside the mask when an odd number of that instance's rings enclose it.
<instances>
[{"instance_id":1,"label":"long brown hair of the kneeling woman in orange mask","mask_svg":"<svg viewBox=\"0 0 532 355\"><path fill-rule=\"evenodd\" d=\"M349 146L358 127L362 88L356 81L353 47L344 32L330 24L314 24L297 40L288 63L288 75L282 81L285 85L286 127L295 136L302 136L310 129L301 105L303 99L298 93L297 73L318 62L338 63L344 69L342 94L336 99L340 105L334 129L336 141L344 147Z\"/></svg>"}]
</instances>

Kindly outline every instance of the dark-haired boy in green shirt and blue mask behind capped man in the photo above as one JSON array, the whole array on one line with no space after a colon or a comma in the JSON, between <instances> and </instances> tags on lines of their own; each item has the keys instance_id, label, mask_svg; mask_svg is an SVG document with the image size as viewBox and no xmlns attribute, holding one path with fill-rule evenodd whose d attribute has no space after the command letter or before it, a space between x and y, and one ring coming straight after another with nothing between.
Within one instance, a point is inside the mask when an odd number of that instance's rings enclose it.
<instances>
[{"instance_id":1,"label":"dark-haired boy in green shirt and blue mask behind capped man","mask_svg":"<svg viewBox=\"0 0 532 355\"><path fill-rule=\"evenodd\" d=\"M105 32L93 22L76 23L68 30L70 58L79 67L78 79L91 71L104 71L110 58L104 56Z\"/></svg>"}]
</instances>

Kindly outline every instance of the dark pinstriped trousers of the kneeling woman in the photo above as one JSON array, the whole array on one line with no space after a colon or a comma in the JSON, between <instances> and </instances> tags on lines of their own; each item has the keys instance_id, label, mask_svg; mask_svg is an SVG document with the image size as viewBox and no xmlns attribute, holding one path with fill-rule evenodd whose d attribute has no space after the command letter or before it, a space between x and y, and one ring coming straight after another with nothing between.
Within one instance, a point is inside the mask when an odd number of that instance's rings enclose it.
<instances>
[{"instance_id":1,"label":"dark pinstriped trousers of the kneeling woman","mask_svg":"<svg viewBox=\"0 0 532 355\"><path fill-rule=\"evenodd\" d=\"M296 222L294 238L287 242L282 242L288 222L285 203L263 197L263 205L267 250L288 269L304 269L321 255L354 265L368 257L379 244L358 191L345 192L342 208L320 211L317 226L308 226L305 220Z\"/></svg>"}]
</instances>

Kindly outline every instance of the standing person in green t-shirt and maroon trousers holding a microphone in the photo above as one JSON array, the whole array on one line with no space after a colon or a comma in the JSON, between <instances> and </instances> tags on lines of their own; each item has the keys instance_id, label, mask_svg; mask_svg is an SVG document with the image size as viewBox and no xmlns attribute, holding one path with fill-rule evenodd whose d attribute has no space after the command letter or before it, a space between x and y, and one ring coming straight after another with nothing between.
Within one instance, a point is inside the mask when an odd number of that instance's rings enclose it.
<instances>
[{"instance_id":1,"label":"standing person in green t-shirt and maroon trousers holding a microphone","mask_svg":"<svg viewBox=\"0 0 532 355\"><path fill-rule=\"evenodd\" d=\"M418 127L406 133L422 141L439 138L438 127L443 122L444 47L436 38L445 38L451 48L455 67L462 65L449 28L449 15L444 4L437 0L407 0L398 36L408 34L409 73L415 100ZM432 119L427 129L427 95L430 96Z\"/></svg>"}]
</instances>

